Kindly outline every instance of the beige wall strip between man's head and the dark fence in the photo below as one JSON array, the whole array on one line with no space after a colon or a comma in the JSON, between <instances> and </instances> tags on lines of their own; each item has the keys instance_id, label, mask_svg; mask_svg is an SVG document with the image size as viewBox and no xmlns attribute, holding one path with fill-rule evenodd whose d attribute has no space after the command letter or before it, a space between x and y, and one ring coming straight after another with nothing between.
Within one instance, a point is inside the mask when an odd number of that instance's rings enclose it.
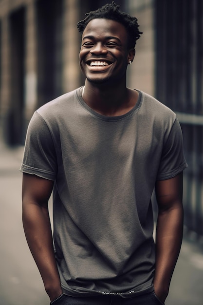
<instances>
[{"instance_id":1,"label":"beige wall strip between man's head and the dark fence","mask_svg":"<svg viewBox=\"0 0 203 305\"><path fill-rule=\"evenodd\" d=\"M135 46L134 61L128 67L128 86L154 95L154 1L128 0L127 10L138 19L139 30L143 32Z\"/></svg>"}]
</instances>

